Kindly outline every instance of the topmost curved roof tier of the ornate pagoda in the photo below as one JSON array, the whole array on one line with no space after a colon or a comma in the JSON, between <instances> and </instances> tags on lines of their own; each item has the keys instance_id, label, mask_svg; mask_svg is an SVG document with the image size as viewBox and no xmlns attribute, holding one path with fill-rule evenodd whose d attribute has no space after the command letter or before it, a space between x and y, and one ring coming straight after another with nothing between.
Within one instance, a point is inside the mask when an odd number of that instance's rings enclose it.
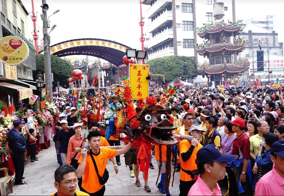
<instances>
[{"instance_id":1,"label":"topmost curved roof tier of the ornate pagoda","mask_svg":"<svg viewBox=\"0 0 284 196\"><path fill-rule=\"evenodd\" d=\"M204 28L204 27L203 27ZM204 39L209 40L210 36L220 36L222 32L222 36L236 36L240 34L243 29L240 28L240 25L229 25L224 22L216 23L211 25L210 27L204 28L204 31L198 32L198 36Z\"/></svg>"}]
</instances>

